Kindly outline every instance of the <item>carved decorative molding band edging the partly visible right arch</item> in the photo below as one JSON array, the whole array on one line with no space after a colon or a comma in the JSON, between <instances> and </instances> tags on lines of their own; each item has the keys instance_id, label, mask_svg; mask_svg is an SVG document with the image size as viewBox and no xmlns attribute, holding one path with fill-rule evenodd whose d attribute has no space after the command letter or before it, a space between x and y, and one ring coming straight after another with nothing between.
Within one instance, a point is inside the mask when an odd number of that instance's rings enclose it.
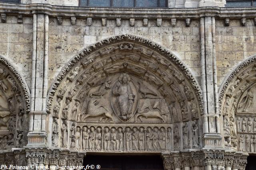
<instances>
[{"instance_id":1,"label":"carved decorative molding band edging the partly visible right arch","mask_svg":"<svg viewBox=\"0 0 256 170\"><path fill-rule=\"evenodd\" d=\"M253 62L256 62L256 55L253 55L253 56L245 59L244 61L242 61L224 79L224 81L222 82L222 85L219 88L219 92L218 92L218 96L219 96L219 109L221 109L221 105L223 103L222 100L224 98L224 95L226 94L226 90L228 88L228 85L230 84L230 82L232 82L234 76L236 76L236 74L238 74L240 72L240 70L242 70L243 68L245 68L246 66L248 66L249 64L251 64Z\"/></svg>"}]
</instances>

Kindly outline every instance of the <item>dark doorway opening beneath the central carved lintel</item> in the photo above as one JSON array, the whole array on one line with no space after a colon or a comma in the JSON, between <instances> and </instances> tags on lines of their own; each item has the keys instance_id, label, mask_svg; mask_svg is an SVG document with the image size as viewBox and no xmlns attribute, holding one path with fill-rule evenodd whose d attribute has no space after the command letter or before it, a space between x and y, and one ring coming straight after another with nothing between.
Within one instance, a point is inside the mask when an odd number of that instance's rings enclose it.
<instances>
[{"instance_id":1,"label":"dark doorway opening beneath the central carved lintel","mask_svg":"<svg viewBox=\"0 0 256 170\"><path fill-rule=\"evenodd\" d=\"M102 156L86 154L84 166L86 165L94 165L95 167L100 165L100 170L164 170L160 155Z\"/></svg>"}]
</instances>

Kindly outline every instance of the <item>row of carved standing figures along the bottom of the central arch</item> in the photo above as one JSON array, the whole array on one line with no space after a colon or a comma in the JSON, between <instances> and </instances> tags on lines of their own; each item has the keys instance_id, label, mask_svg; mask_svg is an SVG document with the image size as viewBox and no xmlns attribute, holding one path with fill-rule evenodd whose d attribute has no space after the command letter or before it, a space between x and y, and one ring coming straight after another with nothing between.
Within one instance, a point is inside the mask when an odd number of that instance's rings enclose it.
<instances>
[{"instance_id":1,"label":"row of carved standing figures along the bottom of the central arch","mask_svg":"<svg viewBox=\"0 0 256 170\"><path fill-rule=\"evenodd\" d=\"M71 150L86 151L166 151L178 150L183 141L183 148L198 148L199 129L197 121L192 121L192 136L189 134L189 123L182 125L182 138L178 124L172 127L94 127L78 126L64 120L60 128L58 119L53 119L52 146L66 147ZM69 139L69 143L68 143Z\"/></svg>"}]
</instances>

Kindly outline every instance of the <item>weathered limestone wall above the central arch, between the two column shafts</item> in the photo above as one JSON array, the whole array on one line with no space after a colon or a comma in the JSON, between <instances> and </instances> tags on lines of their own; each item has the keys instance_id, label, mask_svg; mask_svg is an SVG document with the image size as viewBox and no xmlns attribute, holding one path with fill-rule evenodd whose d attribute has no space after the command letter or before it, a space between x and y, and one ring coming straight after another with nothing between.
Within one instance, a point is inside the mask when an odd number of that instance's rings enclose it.
<instances>
[{"instance_id":1,"label":"weathered limestone wall above the central arch, between the two column shafts","mask_svg":"<svg viewBox=\"0 0 256 170\"><path fill-rule=\"evenodd\" d=\"M186 27L185 20L177 20L176 26L172 27L170 20L162 20L158 27L156 20L148 20L148 26L143 26L142 20L135 20L135 25L130 26L129 20L121 20L121 26L117 27L116 20L107 20L107 25L102 26L101 20L92 19L92 25L87 26L87 20L79 18L75 25L71 24L70 18L63 18L62 25L58 25L57 18L50 18L48 86L64 64L83 47L123 33L138 35L165 46L190 68L200 82L198 25L198 20L192 20L189 27Z\"/></svg>"}]
</instances>

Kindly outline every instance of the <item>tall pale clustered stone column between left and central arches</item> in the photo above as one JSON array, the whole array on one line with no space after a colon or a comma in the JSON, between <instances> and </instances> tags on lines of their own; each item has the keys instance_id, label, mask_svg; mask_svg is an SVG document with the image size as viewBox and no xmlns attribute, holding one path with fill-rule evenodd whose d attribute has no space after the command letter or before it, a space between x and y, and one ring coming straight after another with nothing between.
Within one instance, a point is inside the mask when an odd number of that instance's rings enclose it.
<instances>
[{"instance_id":1,"label":"tall pale clustered stone column between left and central arches","mask_svg":"<svg viewBox=\"0 0 256 170\"><path fill-rule=\"evenodd\" d=\"M49 16L33 15L33 55L31 81L31 111L28 145L46 146L46 97L48 88Z\"/></svg>"}]
</instances>

